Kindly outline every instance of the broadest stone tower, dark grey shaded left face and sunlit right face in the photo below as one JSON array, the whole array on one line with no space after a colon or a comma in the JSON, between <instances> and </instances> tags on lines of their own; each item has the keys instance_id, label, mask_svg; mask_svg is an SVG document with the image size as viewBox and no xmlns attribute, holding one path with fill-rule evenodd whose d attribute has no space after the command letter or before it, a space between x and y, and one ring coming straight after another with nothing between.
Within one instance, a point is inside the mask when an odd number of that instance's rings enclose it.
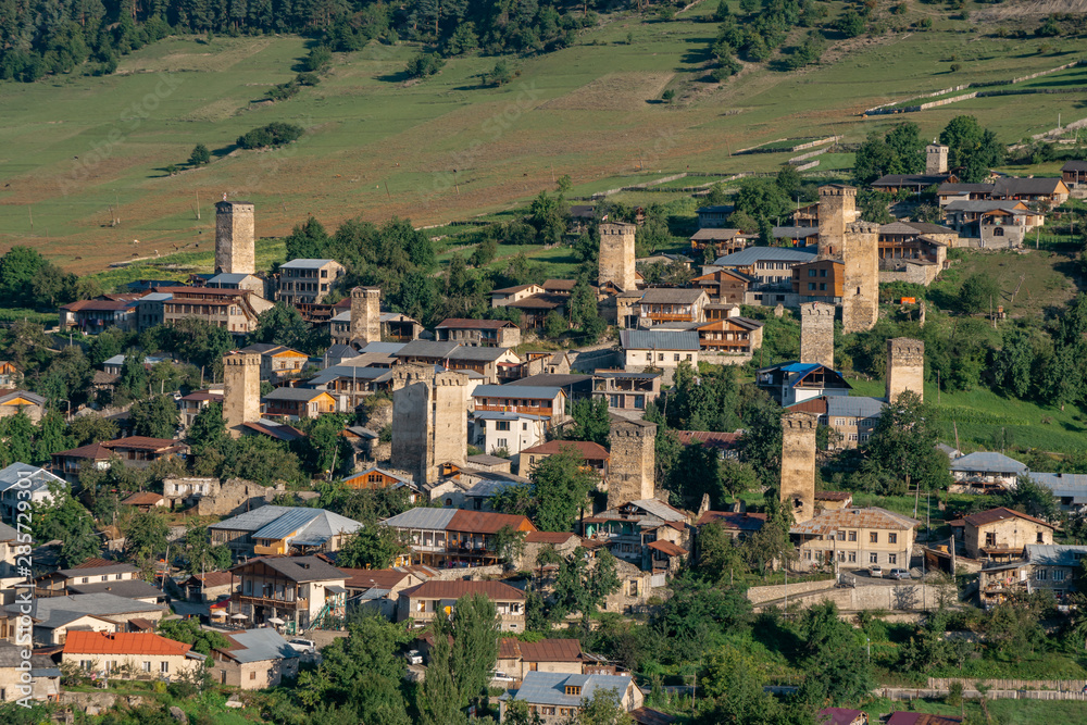
<instances>
[{"instance_id":1,"label":"broadest stone tower, dark grey shaded left face and sunlit right face","mask_svg":"<svg viewBox=\"0 0 1087 725\"><path fill-rule=\"evenodd\" d=\"M392 464L418 485L438 479L442 463L467 453L467 377L403 365L392 382Z\"/></svg>"}]
</instances>

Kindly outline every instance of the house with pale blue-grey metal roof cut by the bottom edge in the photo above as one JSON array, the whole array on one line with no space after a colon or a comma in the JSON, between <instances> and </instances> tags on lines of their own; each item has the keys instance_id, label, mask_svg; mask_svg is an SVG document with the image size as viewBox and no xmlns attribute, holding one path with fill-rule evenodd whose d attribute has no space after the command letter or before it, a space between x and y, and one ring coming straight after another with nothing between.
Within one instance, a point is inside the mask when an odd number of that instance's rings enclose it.
<instances>
[{"instance_id":1,"label":"house with pale blue-grey metal roof cut by the bottom edge","mask_svg":"<svg viewBox=\"0 0 1087 725\"><path fill-rule=\"evenodd\" d=\"M533 717L544 725L575 722L594 692L614 691L626 712L641 707L644 701L630 675L571 675L564 672L528 672L521 687L510 692L510 700L528 704ZM500 700L501 717L510 700Z\"/></svg>"}]
</instances>

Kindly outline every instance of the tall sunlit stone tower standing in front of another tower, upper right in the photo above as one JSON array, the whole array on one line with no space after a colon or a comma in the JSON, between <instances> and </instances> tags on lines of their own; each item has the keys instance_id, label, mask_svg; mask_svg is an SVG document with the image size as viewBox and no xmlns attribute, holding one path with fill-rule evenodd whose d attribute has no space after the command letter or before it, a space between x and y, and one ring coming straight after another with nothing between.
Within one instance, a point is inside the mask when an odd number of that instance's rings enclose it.
<instances>
[{"instance_id":1,"label":"tall sunlit stone tower standing in front of another tower, upper right","mask_svg":"<svg viewBox=\"0 0 1087 725\"><path fill-rule=\"evenodd\" d=\"M879 225L846 226L841 247L841 329L862 333L879 318Z\"/></svg>"}]
</instances>

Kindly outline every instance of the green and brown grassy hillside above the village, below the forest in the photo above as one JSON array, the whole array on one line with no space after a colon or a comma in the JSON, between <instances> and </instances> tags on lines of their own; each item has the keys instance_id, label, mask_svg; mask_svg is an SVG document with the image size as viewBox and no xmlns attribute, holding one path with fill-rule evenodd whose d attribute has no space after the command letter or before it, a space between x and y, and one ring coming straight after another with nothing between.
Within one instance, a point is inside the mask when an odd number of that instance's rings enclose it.
<instances>
[{"instance_id":1,"label":"green and brown grassy hillside above the village, below the forest","mask_svg":"<svg viewBox=\"0 0 1087 725\"><path fill-rule=\"evenodd\" d=\"M841 3L827 4L833 18ZM776 170L792 154L730 153L782 138L859 141L902 120L934 135L953 115L975 113L1013 141L1055 126L1058 113L1065 123L1083 114L1073 95L1052 95L1029 97L1029 113L988 98L861 117L879 103L1077 58L1071 39L1047 39L1042 53L1035 39L998 37L998 24L1036 22L982 23L973 11L988 5L967 3L969 20L950 20L942 8L907 4L901 16L879 11L886 32L834 40L822 65L800 72L772 70L772 59L707 83L716 32L700 22L713 10L708 0L673 22L608 16L572 48L512 60L517 76L501 88L482 85L493 58L452 59L438 76L407 84L403 66L417 49L371 45L337 55L320 86L275 104L253 101L293 77L302 39L171 38L125 58L112 76L0 86L0 250L29 242L90 271L154 250L207 249L211 202L224 192L258 204L266 236L309 214L332 224L393 214L436 224L508 209L562 174L574 193L589 193L688 167ZM933 29L916 32L924 17ZM666 89L677 102L659 102ZM280 151L234 148L272 121L308 133ZM198 142L213 163L168 175ZM848 166L835 155L828 166Z\"/></svg>"}]
</instances>

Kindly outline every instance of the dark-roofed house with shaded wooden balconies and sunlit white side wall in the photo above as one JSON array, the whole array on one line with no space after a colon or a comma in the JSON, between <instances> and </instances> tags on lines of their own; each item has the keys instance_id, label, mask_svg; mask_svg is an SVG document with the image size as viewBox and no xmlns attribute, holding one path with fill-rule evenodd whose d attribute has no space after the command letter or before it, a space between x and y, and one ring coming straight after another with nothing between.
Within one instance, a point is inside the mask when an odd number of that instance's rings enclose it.
<instances>
[{"instance_id":1,"label":"dark-roofed house with shaded wooden balconies and sunlit white side wall","mask_svg":"<svg viewBox=\"0 0 1087 725\"><path fill-rule=\"evenodd\" d=\"M232 624L272 624L293 635L346 612L347 575L321 557L260 557L230 573L240 580Z\"/></svg>"}]
</instances>

